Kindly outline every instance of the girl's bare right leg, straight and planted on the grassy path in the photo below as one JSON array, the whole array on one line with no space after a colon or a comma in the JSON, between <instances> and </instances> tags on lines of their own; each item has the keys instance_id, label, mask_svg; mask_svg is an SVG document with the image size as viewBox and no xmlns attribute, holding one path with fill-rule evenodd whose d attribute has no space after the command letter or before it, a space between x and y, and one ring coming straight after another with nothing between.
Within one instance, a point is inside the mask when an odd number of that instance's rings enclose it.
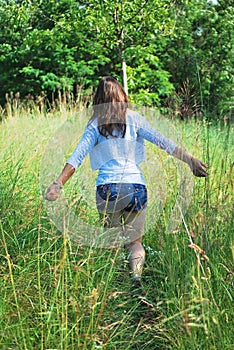
<instances>
[{"instance_id":1,"label":"girl's bare right leg, straight and planted on the grassy path","mask_svg":"<svg viewBox=\"0 0 234 350\"><path fill-rule=\"evenodd\" d=\"M125 247L129 253L130 269L133 279L140 279L145 261L145 249L142 245L146 209L138 212L124 212Z\"/></svg>"}]
</instances>

